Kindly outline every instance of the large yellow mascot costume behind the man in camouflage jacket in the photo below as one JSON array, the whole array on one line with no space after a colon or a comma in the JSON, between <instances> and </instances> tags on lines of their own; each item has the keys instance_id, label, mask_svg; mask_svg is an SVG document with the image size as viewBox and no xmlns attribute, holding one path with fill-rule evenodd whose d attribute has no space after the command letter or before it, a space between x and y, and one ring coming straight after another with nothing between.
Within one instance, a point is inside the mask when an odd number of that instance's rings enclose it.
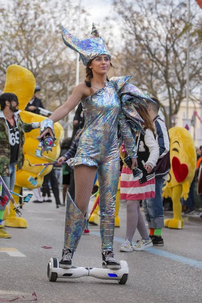
<instances>
[{"instance_id":1,"label":"large yellow mascot costume behind the man in camouflage jacket","mask_svg":"<svg viewBox=\"0 0 202 303\"><path fill-rule=\"evenodd\" d=\"M20 117L22 121L26 123L32 123L32 122L41 122L46 117L33 114L31 112L24 111L27 103L31 100L34 89L36 86L36 81L34 78L34 75L27 70L26 68L23 68L19 65L10 65L7 69L6 74L6 83L4 92L12 92L15 93L18 96L19 100L19 110ZM59 123L55 124L55 136L57 140L55 141L57 147L53 149L53 151L49 152L48 155L52 159L58 159L60 155L60 146L59 142L62 139L63 136L63 128ZM37 178L37 185L34 186L28 181L28 178L31 176L35 178L37 174L41 171L43 167L35 166L30 167L29 162L31 164L40 164L40 163L48 163L51 161L47 161L45 158L37 158L36 157L36 148L38 146L38 140L36 137L39 135L39 129L34 129L29 133L25 133L25 143L23 146L23 154L25 157L24 165L21 170L17 171L16 173L16 180L15 180L15 188L14 192L20 193L21 187L33 189L36 187L40 187L43 183L43 176L51 172L52 165L49 165L44 172ZM13 196L16 203L19 203L19 197L16 195ZM17 197L17 198L16 198ZM13 204L10 206L10 214L8 214L8 207L5 210L4 218L5 219L5 226L9 227L21 227L26 228L27 222L22 217L16 217L16 212L14 210Z\"/></svg>"}]
</instances>

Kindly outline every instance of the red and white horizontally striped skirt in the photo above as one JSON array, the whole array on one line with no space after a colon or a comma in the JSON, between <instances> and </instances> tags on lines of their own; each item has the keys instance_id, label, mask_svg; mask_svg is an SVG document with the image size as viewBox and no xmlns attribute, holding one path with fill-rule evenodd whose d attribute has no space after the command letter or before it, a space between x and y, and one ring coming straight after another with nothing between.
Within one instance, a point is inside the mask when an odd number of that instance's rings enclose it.
<instances>
[{"instance_id":1,"label":"red and white horizontally striped skirt","mask_svg":"<svg viewBox=\"0 0 202 303\"><path fill-rule=\"evenodd\" d=\"M122 200L144 200L155 197L155 175L144 183L134 181L131 169L122 168L121 172L121 199Z\"/></svg>"}]
</instances>

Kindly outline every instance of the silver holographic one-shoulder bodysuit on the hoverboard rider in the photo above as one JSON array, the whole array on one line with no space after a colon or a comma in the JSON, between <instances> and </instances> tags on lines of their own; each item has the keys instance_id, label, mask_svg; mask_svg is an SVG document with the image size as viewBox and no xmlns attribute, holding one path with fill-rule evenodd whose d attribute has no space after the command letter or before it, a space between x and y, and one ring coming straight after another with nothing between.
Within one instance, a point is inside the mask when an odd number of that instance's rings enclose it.
<instances>
[{"instance_id":1,"label":"silver holographic one-shoulder bodysuit on the hoverboard rider","mask_svg":"<svg viewBox=\"0 0 202 303\"><path fill-rule=\"evenodd\" d=\"M119 90L129 77L112 78L106 87L82 100L84 131L75 158L67 163L97 167L99 182L100 234L102 250L113 250L115 202L119 180L118 125L127 146L128 155L136 157L136 146L130 126L121 109ZM68 230L65 247L71 249ZM76 232L75 232L76 233ZM73 240L73 239L72 239Z\"/></svg>"}]
</instances>

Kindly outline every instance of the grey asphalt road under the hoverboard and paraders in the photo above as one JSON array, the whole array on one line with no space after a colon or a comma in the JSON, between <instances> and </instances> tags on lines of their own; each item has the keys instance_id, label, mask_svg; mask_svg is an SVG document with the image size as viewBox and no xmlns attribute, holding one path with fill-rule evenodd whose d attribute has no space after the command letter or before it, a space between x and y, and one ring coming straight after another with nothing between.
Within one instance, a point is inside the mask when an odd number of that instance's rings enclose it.
<instances>
[{"instance_id":1,"label":"grey asphalt road under the hoverboard and paraders","mask_svg":"<svg viewBox=\"0 0 202 303\"><path fill-rule=\"evenodd\" d=\"M93 200L90 205L92 203ZM127 283L119 285L117 281L92 277L49 282L46 274L49 258L60 259L62 254L65 208L56 209L55 202L39 205L30 201L22 212L28 228L7 228L12 238L0 239L0 302L19 296L25 299L15 302L28 302L32 300L33 292L40 303L202 302L202 222L186 221L182 230L164 229L164 247L120 252L126 230L126 204L123 201L121 227L115 229L114 250L117 260L128 262ZM89 227L90 234L82 236L73 265L101 267L99 227ZM134 241L137 239L138 233ZM8 251L8 248L16 251Z\"/></svg>"}]
</instances>

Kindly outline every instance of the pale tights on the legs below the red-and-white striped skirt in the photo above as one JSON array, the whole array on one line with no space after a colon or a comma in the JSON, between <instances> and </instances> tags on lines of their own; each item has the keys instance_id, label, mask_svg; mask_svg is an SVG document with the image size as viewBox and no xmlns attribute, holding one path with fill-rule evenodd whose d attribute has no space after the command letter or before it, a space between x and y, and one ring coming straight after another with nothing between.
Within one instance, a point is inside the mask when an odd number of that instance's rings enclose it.
<instances>
[{"instance_id":1,"label":"pale tights on the legs below the red-and-white striped skirt","mask_svg":"<svg viewBox=\"0 0 202 303\"><path fill-rule=\"evenodd\" d=\"M130 242L132 242L136 228L139 231L140 236L144 240L149 239L148 231L146 229L144 219L140 212L139 202L140 202L140 200L128 200L127 201L126 238L128 238Z\"/></svg>"}]
</instances>

